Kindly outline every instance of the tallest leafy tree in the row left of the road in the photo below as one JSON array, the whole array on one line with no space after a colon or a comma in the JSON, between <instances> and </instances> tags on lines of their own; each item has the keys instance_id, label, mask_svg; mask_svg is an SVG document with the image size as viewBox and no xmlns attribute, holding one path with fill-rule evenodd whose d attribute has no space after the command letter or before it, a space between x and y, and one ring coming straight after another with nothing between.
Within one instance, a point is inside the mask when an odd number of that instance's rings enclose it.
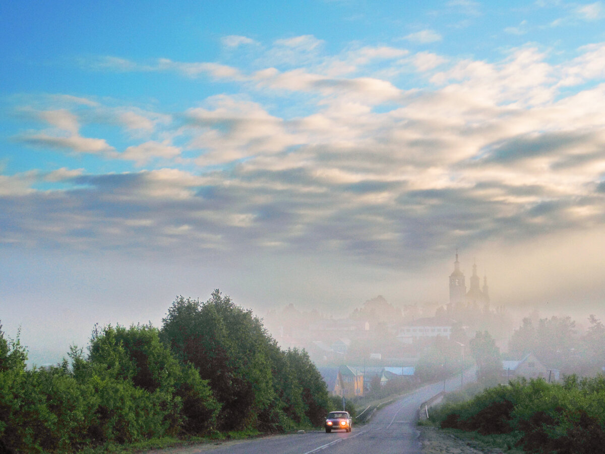
<instances>
[{"instance_id":1,"label":"tallest leafy tree in the row left of the road","mask_svg":"<svg viewBox=\"0 0 605 454\"><path fill-rule=\"evenodd\" d=\"M163 318L163 339L193 364L222 404L224 430L255 426L276 397L261 321L215 290L206 303L177 298Z\"/></svg>"}]
</instances>

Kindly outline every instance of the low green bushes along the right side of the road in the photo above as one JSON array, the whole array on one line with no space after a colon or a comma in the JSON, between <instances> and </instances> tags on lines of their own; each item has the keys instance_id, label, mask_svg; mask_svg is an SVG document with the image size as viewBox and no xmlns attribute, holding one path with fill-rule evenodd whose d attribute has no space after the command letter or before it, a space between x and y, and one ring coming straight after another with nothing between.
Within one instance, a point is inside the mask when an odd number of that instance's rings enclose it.
<instances>
[{"instance_id":1,"label":"low green bushes along the right side of the road","mask_svg":"<svg viewBox=\"0 0 605 454\"><path fill-rule=\"evenodd\" d=\"M499 435L529 453L601 454L605 446L605 377L563 383L512 381L431 415L442 428Z\"/></svg>"}]
</instances>

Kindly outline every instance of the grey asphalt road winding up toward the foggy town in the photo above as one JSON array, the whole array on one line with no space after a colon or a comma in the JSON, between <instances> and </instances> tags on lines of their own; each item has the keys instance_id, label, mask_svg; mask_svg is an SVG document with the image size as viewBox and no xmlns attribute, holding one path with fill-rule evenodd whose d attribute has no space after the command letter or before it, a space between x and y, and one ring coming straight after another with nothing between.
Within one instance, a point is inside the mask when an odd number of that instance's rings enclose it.
<instances>
[{"instance_id":1,"label":"grey asphalt road winding up toward the foggy town","mask_svg":"<svg viewBox=\"0 0 605 454\"><path fill-rule=\"evenodd\" d=\"M464 375L464 383L475 380L474 370ZM450 378L446 391L460 388L461 377ZM443 390L443 381L424 386L403 396L374 414L370 422L355 427L350 433L337 431L267 436L219 446L204 444L179 451L183 454L421 454L416 430L417 412L424 401Z\"/></svg>"}]
</instances>

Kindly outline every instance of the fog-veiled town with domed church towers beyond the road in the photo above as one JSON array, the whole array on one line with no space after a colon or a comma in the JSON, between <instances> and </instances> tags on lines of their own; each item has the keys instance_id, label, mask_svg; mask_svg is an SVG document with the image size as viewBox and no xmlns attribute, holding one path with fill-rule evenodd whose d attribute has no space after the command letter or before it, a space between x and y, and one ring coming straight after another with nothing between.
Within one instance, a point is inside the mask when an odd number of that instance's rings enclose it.
<instances>
[{"instance_id":1,"label":"fog-veiled town with domed church towers beyond the road","mask_svg":"<svg viewBox=\"0 0 605 454\"><path fill-rule=\"evenodd\" d=\"M477 263L473 262L468 285L457 251L453 265L449 300L436 309L434 305L427 309L419 304L397 308L378 295L365 301L361 308L352 309L346 318L289 304L267 314L264 322L282 348L307 350L333 395L362 396L372 386L384 387L391 380L413 381L419 375L430 379L455 373L464 366L464 355L467 361L470 359L469 344L477 333L487 333L494 341L502 360L502 383L516 377L554 381L560 378L561 367L567 368L566 372L580 367L577 361L574 363L573 355L564 361L553 360L539 340L533 345L524 344L527 329L534 328L531 318L523 321L525 331L523 326L517 329L518 321L505 306L492 306L487 276L478 274ZM444 277L444 285L446 282ZM545 332L559 325L569 335L563 343L574 343L574 339L580 342L569 317L533 323L535 330L541 326L547 338ZM595 323L597 327L600 324ZM566 348L575 350L571 344ZM595 370L597 366L581 365Z\"/></svg>"}]
</instances>

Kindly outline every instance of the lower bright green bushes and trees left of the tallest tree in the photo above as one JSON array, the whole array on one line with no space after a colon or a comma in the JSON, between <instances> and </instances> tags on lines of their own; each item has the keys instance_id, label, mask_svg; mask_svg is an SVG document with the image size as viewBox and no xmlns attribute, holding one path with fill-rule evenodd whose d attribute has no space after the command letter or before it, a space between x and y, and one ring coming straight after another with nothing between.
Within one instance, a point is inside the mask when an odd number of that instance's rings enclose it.
<instances>
[{"instance_id":1,"label":"lower bright green bushes and trees left of the tallest tree","mask_svg":"<svg viewBox=\"0 0 605 454\"><path fill-rule=\"evenodd\" d=\"M72 347L71 367L64 360L27 370L18 341L0 333L0 345L4 452L73 452L214 426L218 404L208 384L178 362L151 326L95 327L90 354ZM195 431L184 405L190 396L205 410Z\"/></svg>"}]
</instances>

